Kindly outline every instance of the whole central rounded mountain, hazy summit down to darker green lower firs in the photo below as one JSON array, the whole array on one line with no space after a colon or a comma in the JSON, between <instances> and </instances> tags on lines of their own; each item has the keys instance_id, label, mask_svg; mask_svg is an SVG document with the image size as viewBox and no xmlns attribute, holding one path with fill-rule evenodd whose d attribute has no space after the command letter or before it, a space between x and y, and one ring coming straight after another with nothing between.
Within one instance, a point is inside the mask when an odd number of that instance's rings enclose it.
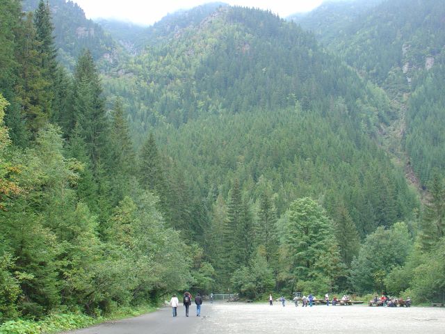
<instances>
[{"instance_id":1,"label":"whole central rounded mountain, hazy summit down to darker green lower firs","mask_svg":"<svg viewBox=\"0 0 445 334\"><path fill-rule=\"evenodd\" d=\"M295 24L218 8L124 71L104 78L106 94L124 97L136 143L154 132L205 207L235 179L257 200L263 177L279 216L300 196L335 198L362 237L412 217L414 193L372 140L394 117L389 99Z\"/></svg>"}]
</instances>

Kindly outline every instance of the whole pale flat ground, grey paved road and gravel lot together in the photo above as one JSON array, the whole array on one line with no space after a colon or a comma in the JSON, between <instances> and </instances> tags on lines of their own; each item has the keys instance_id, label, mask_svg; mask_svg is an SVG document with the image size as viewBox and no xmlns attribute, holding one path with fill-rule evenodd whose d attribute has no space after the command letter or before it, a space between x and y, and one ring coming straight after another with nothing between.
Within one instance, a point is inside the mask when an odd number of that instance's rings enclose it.
<instances>
[{"instance_id":1,"label":"whole pale flat ground, grey paved road and gravel lot together","mask_svg":"<svg viewBox=\"0 0 445 334\"><path fill-rule=\"evenodd\" d=\"M174 333L444 333L445 308L383 308L367 305L284 308L281 303L204 303L201 317L178 308L162 308L132 319L108 322L70 334Z\"/></svg>"}]
</instances>

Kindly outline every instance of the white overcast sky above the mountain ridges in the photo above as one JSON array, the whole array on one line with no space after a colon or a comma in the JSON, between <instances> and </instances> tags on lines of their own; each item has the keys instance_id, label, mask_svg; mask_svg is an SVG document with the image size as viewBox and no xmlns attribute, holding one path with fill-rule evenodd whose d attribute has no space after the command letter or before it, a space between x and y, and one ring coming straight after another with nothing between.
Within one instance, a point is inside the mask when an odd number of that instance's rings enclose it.
<instances>
[{"instance_id":1,"label":"white overcast sky above the mountain ridges","mask_svg":"<svg viewBox=\"0 0 445 334\"><path fill-rule=\"evenodd\" d=\"M280 17L307 12L323 0L229 0L229 5L270 9ZM137 24L154 24L168 13L214 1L209 0L74 0L89 19L123 19Z\"/></svg>"}]
</instances>

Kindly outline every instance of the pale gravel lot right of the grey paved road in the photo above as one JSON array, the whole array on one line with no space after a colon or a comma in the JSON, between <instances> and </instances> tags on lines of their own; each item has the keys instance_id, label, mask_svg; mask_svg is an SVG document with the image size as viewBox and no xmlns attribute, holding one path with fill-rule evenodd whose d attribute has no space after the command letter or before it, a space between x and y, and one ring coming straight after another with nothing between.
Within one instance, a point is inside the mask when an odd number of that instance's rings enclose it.
<instances>
[{"instance_id":1,"label":"pale gravel lot right of the grey paved road","mask_svg":"<svg viewBox=\"0 0 445 334\"><path fill-rule=\"evenodd\" d=\"M444 308L215 303L206 309L200 333L445 333Z\"/></svg>"}]
</instances>

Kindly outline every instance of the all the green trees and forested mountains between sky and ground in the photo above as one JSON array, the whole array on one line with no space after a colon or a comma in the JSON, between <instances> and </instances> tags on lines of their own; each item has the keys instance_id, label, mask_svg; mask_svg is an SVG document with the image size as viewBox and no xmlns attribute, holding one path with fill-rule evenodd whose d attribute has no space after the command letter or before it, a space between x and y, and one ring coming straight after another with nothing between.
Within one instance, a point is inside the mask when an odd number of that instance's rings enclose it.
<instances>
[{"instance_id":1,"label":"all the green trees and forested mountains between sky and ground","mask_svg":"<svg viewBox=\"0 0 445 334\"><path fill-rule=\"evenodd\" d=\"M442 298L444 8L356 5L136 29L2 0L0 322L181 289Z\"/></svg>"}]
</instances>

